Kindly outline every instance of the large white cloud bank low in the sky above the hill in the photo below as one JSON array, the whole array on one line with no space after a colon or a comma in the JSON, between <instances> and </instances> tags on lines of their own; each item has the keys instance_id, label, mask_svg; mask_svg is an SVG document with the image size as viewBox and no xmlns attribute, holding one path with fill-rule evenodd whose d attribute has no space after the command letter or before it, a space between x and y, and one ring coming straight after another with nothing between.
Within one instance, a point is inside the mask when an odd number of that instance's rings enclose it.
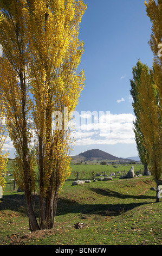
<instances>
[{"instance_id":1,"label":"large white cloud bank low in the sky above the hill","mask_svg":"<svg viewBox=\"0 0 162 256\"><path fill-rule=\"evenodd\" d=\"M74 130L72 135L76 140L75 145L135 144L133 132L134 118L134 115L131 113L103 114L98 124L84 124L80 125L80 130Z\"/></svg>"}]
</instances>

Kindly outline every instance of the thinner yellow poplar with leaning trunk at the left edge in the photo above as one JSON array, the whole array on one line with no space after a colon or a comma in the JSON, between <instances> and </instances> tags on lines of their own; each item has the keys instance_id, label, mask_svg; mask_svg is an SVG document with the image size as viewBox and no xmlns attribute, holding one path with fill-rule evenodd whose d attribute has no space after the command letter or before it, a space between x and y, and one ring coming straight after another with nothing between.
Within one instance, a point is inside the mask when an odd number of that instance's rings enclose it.
<instances>
[{"instance_id":1,"label":"thinner yellow poplar with leaning trunk at the left edge","mask_svg":"<svg viewBox=\"0 0 162 256\"><path fill-rule=\"evenodd\" d=\"M31 199L35 179L29 149L31 134L26 73L28 41L25 36L24 1L2 0L0 8L0 41L3 47L3 58L1 58L0 63L0 90L5 106L9 136L16 149L16 169L18 172L16 181L25 193L30 229L37 230L38 225Z\"/></svg>"}]
</instances>

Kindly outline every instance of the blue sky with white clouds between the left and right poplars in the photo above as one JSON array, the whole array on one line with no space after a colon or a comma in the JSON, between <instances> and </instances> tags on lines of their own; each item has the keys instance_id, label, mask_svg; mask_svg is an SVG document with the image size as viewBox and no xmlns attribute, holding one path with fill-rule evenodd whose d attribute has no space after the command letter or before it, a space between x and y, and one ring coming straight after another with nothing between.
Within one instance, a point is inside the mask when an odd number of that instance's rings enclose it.
<instances>
[{"instance_id":1,"label":"blue sky with white clouds between the left and right poplars","mask_svg":"<svg viewBox=\"0 0 162 256\"><path fill-rule=\"evenodd\" d=\"M118 157L137 156L134 141L133 107L129 90L132 68L138 59L152 66L153 54L148 45L151 22L144 0L85 0L79 39L85 42L79 71L86 75L85 88L76 111L85 121L87 111L101 115L99 129L87 125L73 133L73 155L89 149L101 149ZM85 113L83 113L85 111ZM103 121L109 112L108 120ZM14 157L8 139L10 157Z\"/></svg>"}]
</instances>

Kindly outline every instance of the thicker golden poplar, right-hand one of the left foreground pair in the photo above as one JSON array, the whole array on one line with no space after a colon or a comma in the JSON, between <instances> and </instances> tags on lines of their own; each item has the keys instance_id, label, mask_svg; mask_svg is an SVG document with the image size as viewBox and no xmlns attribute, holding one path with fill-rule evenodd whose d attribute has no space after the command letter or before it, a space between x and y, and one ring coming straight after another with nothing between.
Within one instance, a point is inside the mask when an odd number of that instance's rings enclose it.
<instances>
[{"instance_id":1,"label":"thicker golden poplar, right-hand one of the left foreground pair","mask_svg":"<svg viewBox=\"0 0 162 256\"><path fill-rule=\"evenodd\" d=\"M41 227L54 225L60 187L69 175L69 136L66 113L73 112L85 76L76 73L83 53L79 24L83 1L28 1L30 84L40 170ZM55 113L61 113L57 124Z\"/></svg>"}]
</instances>

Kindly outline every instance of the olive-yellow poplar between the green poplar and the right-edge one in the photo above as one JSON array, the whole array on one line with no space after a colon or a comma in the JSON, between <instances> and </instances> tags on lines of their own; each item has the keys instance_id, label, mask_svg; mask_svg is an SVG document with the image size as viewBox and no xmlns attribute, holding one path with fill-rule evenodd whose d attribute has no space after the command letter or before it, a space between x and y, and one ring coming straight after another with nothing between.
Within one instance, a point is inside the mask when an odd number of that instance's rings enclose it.
<instances>
[{"instance_id":1,"label":"olive-yellow poplar between the green poplar and the right-edge one","mask_svg":"<svg viewBox=\"0 0 162 256\"><path fill-rule=\"evenodd\" d=\"M162 147L161 147L161 118L157 90L154 86L153 71L144 66L141 72L141 83L138 84L138 99L140 105L139 127L144 135L144 145L150 155L150 170L157 184L157 199L159 180L162 170Z\"/></svg>"}]
</instances>

